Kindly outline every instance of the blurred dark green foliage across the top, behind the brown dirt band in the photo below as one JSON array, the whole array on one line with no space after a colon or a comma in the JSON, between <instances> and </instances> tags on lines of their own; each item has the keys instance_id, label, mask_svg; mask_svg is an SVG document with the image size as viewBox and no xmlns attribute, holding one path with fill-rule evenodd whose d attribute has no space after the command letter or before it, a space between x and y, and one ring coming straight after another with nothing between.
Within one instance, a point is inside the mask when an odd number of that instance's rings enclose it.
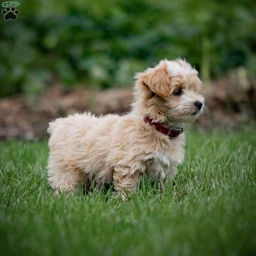
<instances>
[{"instance_id":1,"label":"blurred dark green foliage across the top, behind the brown dirt band","mask_svg":"<svg viewBox=\"0 0 256 256\"><path fill-rule=\"evenodd\" d=\"M160 59L186 58L205 80L244 66L256 74L256 2L19 1L0 19L0 96L126 86ZM3 9L3 8L2 8Z\"/></svg>"}]
</instances>

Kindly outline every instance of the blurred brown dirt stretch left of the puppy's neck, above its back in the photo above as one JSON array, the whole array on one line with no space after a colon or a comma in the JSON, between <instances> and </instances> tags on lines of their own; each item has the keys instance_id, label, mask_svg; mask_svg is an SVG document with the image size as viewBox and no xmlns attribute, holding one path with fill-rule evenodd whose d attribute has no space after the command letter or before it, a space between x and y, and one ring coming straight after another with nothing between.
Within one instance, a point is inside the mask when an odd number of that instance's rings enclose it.
<instances>
[{"instance_id":1,"label":"blurred brown dirt stretch left of the puppy's neck, above its back","mask_svg":"<svg viewBox=\"0 0 256 256\"><path fill-rule=\"evenodd\" d=\"M69 114L92 111L96 115L128 110L132 90L92 92L52 87L37 97L17 95L0 100L0 138L33 139L46 135L48 123Z\"/></svg>"}]
</instances>

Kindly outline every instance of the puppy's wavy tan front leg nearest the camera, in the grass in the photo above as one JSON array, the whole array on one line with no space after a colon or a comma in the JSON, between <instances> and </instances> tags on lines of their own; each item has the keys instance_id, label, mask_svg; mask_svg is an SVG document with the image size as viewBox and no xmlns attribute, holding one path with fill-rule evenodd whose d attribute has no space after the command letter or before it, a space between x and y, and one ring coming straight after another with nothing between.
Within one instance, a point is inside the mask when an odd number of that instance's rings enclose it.
<instances>
[{"instance_id":1,"label":"puppy's wavy tan front leg nearest the camera, in the grass","mask_svg":"<svg viewBox=\"0 0 256 256\"><path fill-rule=\"evenodd\" d=\"M135 192L140 180L140 172L131 174L130 167L116 167L114 168L113 183L117 192L122 192L128 189L130 193ZM126 199L125 194L122 193L122 199Z\"/></svg>"}]
</instances>

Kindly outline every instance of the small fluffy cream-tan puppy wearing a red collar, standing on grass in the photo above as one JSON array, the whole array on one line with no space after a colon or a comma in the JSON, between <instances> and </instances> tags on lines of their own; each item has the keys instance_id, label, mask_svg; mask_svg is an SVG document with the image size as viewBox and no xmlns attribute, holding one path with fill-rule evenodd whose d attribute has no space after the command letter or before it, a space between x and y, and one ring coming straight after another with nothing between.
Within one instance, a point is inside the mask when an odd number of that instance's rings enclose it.
<instances>
[{"instance_id":1,"label":"small fluffy cream-tan puppy wearing a red collar, standing on grass","mask_svg":"<svg viewBox=\"0 0 256 256\"><path fill-rule=\"evenodd\" d=\"M130 113L77 113L49 123L47 172L56 192L76 191L81 182L132 193L141 174L152 181L175 174L184 159L183 125L204 109L198 72L184 60L163 60L135 78Z\"/></svg>"}]
</instances>

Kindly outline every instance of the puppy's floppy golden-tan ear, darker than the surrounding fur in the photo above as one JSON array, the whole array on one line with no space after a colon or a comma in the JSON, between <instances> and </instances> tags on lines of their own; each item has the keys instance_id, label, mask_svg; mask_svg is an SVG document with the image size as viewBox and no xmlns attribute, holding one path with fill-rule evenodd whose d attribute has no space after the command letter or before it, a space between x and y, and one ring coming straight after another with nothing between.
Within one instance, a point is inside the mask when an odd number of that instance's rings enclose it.
<instances>
[{"instance_id":1,"label":"puppy's floppy golden-tan ear, darker than the surrounding fur","mask_svg":"<svg viewBox=\"0 0 256 256\"><path fill-rule=\"evenodd\" d=\"M150 68L144 73L137 74L137 78L148 87L151 92L160 97L169 95L170 93L170 76L167 71L166 63L161 61L155 68Z\"/></svg>"}]
</instances>

